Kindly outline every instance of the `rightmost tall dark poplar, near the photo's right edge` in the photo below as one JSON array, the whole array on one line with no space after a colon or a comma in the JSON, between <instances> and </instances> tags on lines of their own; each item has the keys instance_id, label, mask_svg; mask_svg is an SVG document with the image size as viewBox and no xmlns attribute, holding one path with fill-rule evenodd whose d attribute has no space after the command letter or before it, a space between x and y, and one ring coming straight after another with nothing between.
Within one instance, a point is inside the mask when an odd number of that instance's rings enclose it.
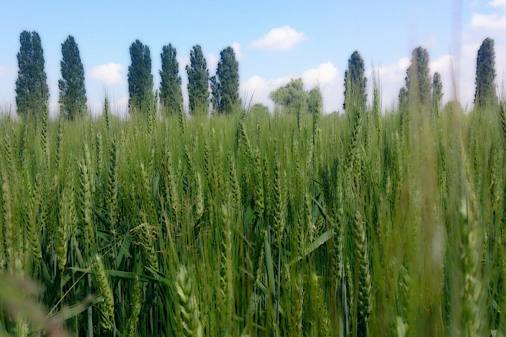
<instances>
[{"instance_id":1,"label":"rightmost tall dark poplar, near the photo's right edge","mask_svg":"<svg viewBox=\"0 0 506 337\"><path fill-rule=\"evenodd\" d=\"M495 93L495 51L494 40L486 38L478 50L476 58L476 93L474 105L484 107L497 104Z\"/></svg>"}]
</instances>

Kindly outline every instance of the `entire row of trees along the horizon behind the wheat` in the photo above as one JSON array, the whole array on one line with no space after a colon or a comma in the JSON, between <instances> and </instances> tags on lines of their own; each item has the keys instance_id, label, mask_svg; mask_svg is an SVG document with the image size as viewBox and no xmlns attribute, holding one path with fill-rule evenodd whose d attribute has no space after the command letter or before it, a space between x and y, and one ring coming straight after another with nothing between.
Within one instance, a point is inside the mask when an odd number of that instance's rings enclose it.
<instances>
[{"instance_id":1,"label":"entire row of trees along the horizon behind the wheat","mask_svg":"<svg viewBox=\"0 0 506 337\"><path fill-rule=\"evenodd\" d=\"M129 51L129 111L142 112L153 100L150 49L136 40ZM176 48L171 44L163 46L160 54L160 103L166 114L179 113L183 109L181 76L176 55ZM18 114L37 117L47 108L49 97L44 52L37 32L24 31L20 34L18 67L18 79L15 82ZM79 48L72 36L67 37L62 44L60 67L60 114L67 119L84 116L87 113L84 67ZM186 73L190 114L207 114L209 106L214 114L228 114L240 108L239 64L230 46L221 51L216 74L212 77L209 76L202 48L200 45L193 46ZM494 41L487 38L481 44L476 58L475 107L498 104L495 77ZM439 109L443 97L441 75L436 72L431 77L427 49L420 46L413 50L405 80L406 86L403 86L398 94L398 108L401 112L408 108L408 104L432 105L435 110ZM293 79L287 85L276 89L271 92L269 98L287 112L312 112L323 105L319 88L306 92L301 79ZM358 51L353 52L349 58L348 68L344 73L343 109L346 110L346 105L351 103L357 104L363 110L367 105L367 78L363 58Z\"/></svg>"}]
</instances>

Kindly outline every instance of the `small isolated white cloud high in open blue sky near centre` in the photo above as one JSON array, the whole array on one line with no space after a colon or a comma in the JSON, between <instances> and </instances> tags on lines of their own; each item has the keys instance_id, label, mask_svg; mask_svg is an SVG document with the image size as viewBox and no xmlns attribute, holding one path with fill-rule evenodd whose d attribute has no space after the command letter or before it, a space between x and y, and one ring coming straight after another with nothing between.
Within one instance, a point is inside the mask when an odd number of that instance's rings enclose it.
<instances>
[{"instance_id":1,"label":"small isolated white cloud high in open blue sky near centre","mask_svg":"<svg viewBox=\"0 0 506 337\"><path fill-rule=\"evenodd\" d=\"M306 39L306 34L297 32L289 25L273 28L263 37L254 41L254 48L268 51L287 51Z\"/></svg>"}]
</instances>

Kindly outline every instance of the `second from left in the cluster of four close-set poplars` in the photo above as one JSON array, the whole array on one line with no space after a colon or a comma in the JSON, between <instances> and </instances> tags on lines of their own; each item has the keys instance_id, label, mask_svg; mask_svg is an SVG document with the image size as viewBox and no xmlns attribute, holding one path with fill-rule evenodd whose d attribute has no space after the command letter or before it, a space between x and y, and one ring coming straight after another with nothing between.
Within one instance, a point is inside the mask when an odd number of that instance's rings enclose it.
<instances>
[{"instance_id":1,"label":"second from left in the cluster of four close-set poplars","mask_svg":"<svg viewBox=\"0 0 506 337\"><path fill-rule=\"evenodd\" d=\"M183 105L183 94L181 93L181 76L179 76L176 48L171 44L163 46L161 56L160 101L169 113L179 112L181 105Z\"/></svg>"}]
</instances>

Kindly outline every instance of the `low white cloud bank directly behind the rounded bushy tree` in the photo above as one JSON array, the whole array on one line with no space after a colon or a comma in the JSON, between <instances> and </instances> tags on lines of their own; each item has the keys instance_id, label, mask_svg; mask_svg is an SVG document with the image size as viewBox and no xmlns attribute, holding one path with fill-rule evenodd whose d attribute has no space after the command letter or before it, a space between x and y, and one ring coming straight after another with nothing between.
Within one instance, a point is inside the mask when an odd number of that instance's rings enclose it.
<instances>
[{"instance_id":1,"label":"low white cloud bank directly behind the rounded bushy tree","mask_svg":"<svg viewBox=\"0 0 506 337\"><path fill-rule=\"evenodd\" d=\"M325 62L316 68L308 69L299 76L277 77L275 79L265 79L254 75L242 81L240 91L244 95L245 103L251 101L262 103L268 107L273 107L273 102L268 98L269 93L275 91L280 86L284 86L292 79L301 78L304 81L306 90L320 86L323 95L323 110L332 112L339 110L342 105L342 77L339 77L339 71L332 62Z\"/></svg>"}]
</instances>

